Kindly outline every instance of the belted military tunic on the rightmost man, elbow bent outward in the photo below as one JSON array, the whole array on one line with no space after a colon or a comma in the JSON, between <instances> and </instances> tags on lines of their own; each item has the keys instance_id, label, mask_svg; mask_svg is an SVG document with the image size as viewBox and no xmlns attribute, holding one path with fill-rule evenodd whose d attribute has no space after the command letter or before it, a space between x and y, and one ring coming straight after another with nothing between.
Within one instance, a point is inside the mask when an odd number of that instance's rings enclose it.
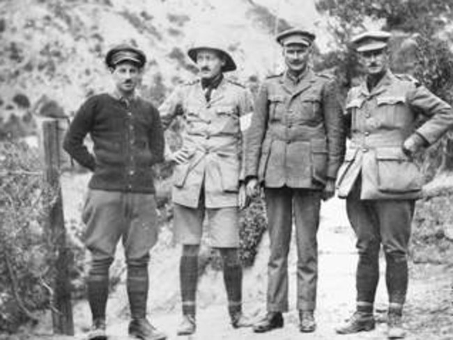
<instances>
[{"instance_id":1,"label":"belted military tunic on the rightmost man, elbow bent outward","mask_svg":"<svg viewBox=\"0 0 453 340\"><path fill-rule=\"evenodd\" d=\"M408 76L388 71L371 93L365 82L352 88L346 102L351 146L338 175L339 197L347 197L361 174L362 200L420 197L422 174L402 150L418 133L432 144L453 124L452 108ZM420 113L430 118L415 129Z\"/></svg>"}]
</instances>

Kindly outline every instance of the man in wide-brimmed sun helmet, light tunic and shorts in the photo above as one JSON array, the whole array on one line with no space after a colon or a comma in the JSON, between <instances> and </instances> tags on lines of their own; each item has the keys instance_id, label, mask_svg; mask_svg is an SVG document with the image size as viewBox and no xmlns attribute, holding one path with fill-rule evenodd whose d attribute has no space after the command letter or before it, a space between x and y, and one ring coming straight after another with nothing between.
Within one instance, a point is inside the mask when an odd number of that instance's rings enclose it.
<instances>
[{"instance_id":1,"label":"man in wide-brimmed sun helmet, light tunic and shorts","mask_svg":"<svg viewBox=\"0 0 453 340\"><path fill-rule=\"evenodd\" d=\"M178 335L196 332L198 255L204 218L209 243L220 250L231 325L250 326L242 311L242 268L238 256L238 209L245 207L243 130L252 95L228 79L236 63L219 36L202 37L187 52L199 77L178 86L160 106L164 126L183 121L181 149L174 161L174 232L183 245L180 262L183 321Z\"/></svg>"}]
</instances>

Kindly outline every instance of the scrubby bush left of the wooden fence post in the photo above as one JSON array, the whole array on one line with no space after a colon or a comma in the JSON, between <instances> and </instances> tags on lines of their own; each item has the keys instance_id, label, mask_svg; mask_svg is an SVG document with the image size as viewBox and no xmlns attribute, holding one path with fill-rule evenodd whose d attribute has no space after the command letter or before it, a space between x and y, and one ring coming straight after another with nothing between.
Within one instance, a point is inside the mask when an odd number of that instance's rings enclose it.
<instances>
[{"instance_id":1,"label":"scrubby bush left of the wooden fence post","mask_svg":"<svg viewBox=\"0 0 453 340\"><path fill-rule=\"evenodd\" d=\"M1 143L0 169L0 330L14 332L50 307L57 249L44 226L56 191L26 143Z\"/></svg>"}]
</instances>

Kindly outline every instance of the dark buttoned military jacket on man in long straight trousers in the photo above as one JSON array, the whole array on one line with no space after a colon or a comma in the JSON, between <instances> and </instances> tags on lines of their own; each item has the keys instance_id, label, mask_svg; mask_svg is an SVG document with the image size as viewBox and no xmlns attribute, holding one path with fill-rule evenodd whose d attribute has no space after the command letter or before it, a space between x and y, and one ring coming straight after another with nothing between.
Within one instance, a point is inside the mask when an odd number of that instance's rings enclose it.
<instances>
[{"instance_id":1,"label":"dark buttoned military jacket on man in long straight trousers","mask_svg":"<svg viewBox=\"0 0 453 340\"><path fill-rule=\"evenodd\" d=\"M335 81L307 70L296 84L287 73L261 86L247 132L247 177L266 188L323 188L344 154Z\"/></svg>"}]
</instances>

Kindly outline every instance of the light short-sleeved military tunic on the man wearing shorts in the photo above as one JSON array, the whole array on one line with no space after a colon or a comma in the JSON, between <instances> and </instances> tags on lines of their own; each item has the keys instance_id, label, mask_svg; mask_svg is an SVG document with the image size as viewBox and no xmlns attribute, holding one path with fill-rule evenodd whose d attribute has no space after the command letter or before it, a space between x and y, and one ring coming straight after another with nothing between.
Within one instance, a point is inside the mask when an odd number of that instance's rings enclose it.
<instances>
[{"instance_id":1,"label":"light short-sleeved military tunic on the man wearing shorts","mask_svg":"<svg viewBox=\"0 0 453 340\"><path fill-rule=\"evenodd\" d=\"M187 163L176 165L172 200L197 208L204 188L204 206L238 206L243 179L243 133L240 118L252 112L252 95L244 86L223 79L206 101L201 81L185 83L160 106L162 124L183 118L183 148Z\"/></svg>"}]
</instances>

